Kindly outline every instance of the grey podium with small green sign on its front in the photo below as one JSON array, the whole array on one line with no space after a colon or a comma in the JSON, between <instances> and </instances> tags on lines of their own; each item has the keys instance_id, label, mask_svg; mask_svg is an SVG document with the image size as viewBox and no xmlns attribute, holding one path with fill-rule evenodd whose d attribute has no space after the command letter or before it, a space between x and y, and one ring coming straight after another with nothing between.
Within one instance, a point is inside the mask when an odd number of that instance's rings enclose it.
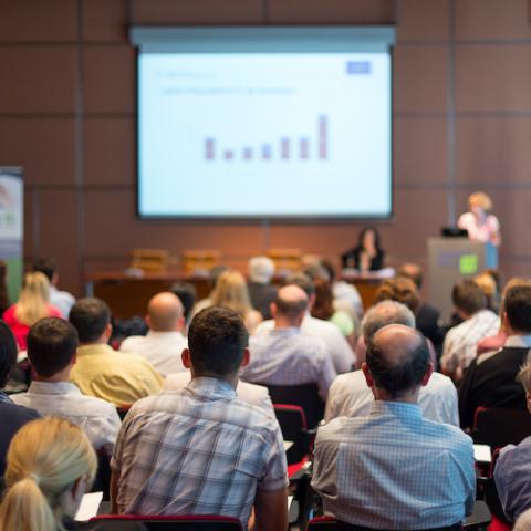
<instances>
[{"instance_id":1,"label":"grey podium with small green sign on its front","mask_svg":"<svg viewBox=\"0 0 531 531\"><path fill-rule=\"evenodd\" d=\"M429 302L448 321L454 304L451 290L464 279L471 279L486 269L498 268L498 249L492 243L468 238L428 238Z\"/></svg>"}]
</instances>

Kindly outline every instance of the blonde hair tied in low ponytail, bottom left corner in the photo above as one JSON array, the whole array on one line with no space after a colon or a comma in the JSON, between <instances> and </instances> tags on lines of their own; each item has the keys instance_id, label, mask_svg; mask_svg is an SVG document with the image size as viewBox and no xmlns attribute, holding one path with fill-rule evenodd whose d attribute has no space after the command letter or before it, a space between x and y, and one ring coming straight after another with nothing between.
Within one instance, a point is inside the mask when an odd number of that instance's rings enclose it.
<instances>
[{"instance_id":1,"label":"blonde hair tied in low ponytail, bottom left corner","mask_svg":"<svg viewBox=\"0 0 531 531\"><path fill-rule=\"evenodd\" d=\"M66 419L24 425L9 446L0 531L63 530L61 494L80 478L92 485L97 459L88 438Z\"/></svg>"}]
</instances>

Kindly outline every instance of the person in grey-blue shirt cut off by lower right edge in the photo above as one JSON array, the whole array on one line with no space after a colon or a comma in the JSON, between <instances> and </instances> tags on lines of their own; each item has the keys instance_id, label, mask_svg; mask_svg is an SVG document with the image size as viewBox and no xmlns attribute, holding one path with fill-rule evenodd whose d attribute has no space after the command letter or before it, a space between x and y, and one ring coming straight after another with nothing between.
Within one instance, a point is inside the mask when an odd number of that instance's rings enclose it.
<instances>
[{"instance_id":1,"label":"person in grey-blue shirt cut off by lower right edge","mask_svg":"<svg viewBox=\"0 0 531 531\"><path fill-rule=\"evenodd\" d=\"M531 413L531 364L518 374L518 381L525 391L525 403ZM494 467L494 481L501 507L513 522L527 509L531 509L531 437L518 446L508 445L501 449Z\"/></svg>"}]
</instances>

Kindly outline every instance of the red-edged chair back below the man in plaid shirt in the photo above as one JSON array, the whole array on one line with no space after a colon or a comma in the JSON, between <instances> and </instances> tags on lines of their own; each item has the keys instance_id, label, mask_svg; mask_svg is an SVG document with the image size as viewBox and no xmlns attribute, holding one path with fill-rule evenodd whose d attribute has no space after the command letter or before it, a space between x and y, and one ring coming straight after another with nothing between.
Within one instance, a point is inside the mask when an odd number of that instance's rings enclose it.
<instances>
[{"instance_id":1,"label":"red-edged chair back below the man in plaid shirt","mask_svg":"<svg viewBox=\"0 0 531 531\"><path fill-rule=\"evenodd\" d=\"M215 514L104 514L91 522L110 522L110 531L125 531L131 522L142 522L148 531L243 531L237 518Z\"/></svg>"}]
</instances>

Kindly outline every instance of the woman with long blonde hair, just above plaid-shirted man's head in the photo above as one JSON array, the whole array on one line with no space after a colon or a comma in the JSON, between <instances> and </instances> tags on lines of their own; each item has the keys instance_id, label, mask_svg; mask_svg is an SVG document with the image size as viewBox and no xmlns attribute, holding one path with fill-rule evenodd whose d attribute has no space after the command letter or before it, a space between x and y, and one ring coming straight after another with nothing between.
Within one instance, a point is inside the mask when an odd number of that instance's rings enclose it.
<instances>
[{"instance_id":1,"label":"woman with long blonde hair, just above plaid-shirted man's head","mask_svg":"<svg viewBox=\"0 0 531 531\"><path fill-rule=\"evenodd\" d=\"M216 283L210 295L212 306L225 306L238 312L250 334L262 321L260 312L251 305L249 290L244 277L233 269L225 271Z\"/></svg>"}]
</instances>

